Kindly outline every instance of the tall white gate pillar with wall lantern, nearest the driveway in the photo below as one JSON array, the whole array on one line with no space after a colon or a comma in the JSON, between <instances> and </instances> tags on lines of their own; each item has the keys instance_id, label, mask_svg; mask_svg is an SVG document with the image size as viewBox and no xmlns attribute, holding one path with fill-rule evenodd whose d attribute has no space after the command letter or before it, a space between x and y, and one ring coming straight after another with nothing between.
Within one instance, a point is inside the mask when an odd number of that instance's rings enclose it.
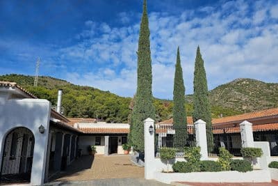
<instances>
[{"instance_id":1,"label":"tall white gate pillar with wall lantern, nearest the driveway","mask_svg":"<svg viewBox=\"0 0 278 186\"><path fill-rule=\"evenodd\" d=\"M149 132L149 128L154 130L154 120L147 118L144 121L144 137L145 137L145 179L150 180L154 178L154 131Z\"/></svg>"}]
</instances>

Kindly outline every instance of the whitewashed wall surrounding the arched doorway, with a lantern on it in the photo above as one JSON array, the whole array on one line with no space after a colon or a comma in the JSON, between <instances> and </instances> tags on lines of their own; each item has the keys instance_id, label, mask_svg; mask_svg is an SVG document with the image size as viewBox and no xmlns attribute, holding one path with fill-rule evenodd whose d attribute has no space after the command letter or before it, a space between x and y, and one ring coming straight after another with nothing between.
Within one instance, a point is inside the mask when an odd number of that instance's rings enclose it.
<instances>
[{"instance_id":1,"label":"whitewashed wall surrounding the arched doorway, with a lantern on it","mask_svg":"<svg viewBox=\"0 0 278 186\"><path fill-rule=\"evenodd\" d=\"M41 185L47 158L51 104L40 99L6 100L4 93L0 97L0 167L6 135L16 127L26 127L35 137L31 184ZM38 130L40 125L45 128L44 134Z\"/></svg>"}]
</instances>

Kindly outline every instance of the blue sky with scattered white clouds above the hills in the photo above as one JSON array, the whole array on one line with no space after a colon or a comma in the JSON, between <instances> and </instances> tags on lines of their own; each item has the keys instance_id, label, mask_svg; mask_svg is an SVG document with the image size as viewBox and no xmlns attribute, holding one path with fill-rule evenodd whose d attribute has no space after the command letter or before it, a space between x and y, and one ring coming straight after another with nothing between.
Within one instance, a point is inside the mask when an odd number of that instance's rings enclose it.
<instances>
[{"instance_id":1,"label":"blue sky with scattered white clouds above the hills","mask_svg":"<svg viewBox=\"0 0 278 186\"><path fill-rule=\"evenodd\" d=\"M180 47L186 94L197 45L208 87L240 77L278 82L278 1L149 0L153 93L172 99ZM35 74L136 92L142 1L0 1L0 74Z\"/></svg>"}]
</instances>

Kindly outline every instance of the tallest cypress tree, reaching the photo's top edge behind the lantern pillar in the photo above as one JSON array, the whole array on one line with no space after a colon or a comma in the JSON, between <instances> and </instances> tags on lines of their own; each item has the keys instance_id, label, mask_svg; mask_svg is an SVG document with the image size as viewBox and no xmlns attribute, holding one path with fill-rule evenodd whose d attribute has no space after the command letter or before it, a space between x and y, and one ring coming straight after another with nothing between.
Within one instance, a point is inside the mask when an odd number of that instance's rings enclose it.
<instances>
[{"instance_id":1,"label":"tallest cypress tree, reaching the photo's top edge behind the lantern pillar","mask_svg":"<svg viewBox=\"0 0 278 186\"><path fill-rule=\"evenodd\" d=\"M144 151L144 123L146 118L155 118L152 103L152 59L149 42L149 20L147 16L147 1L143 3L143 13L140 24L138 42L137 91L131 114L131 143L135 150Z\"/></svg>"}]
</instances>

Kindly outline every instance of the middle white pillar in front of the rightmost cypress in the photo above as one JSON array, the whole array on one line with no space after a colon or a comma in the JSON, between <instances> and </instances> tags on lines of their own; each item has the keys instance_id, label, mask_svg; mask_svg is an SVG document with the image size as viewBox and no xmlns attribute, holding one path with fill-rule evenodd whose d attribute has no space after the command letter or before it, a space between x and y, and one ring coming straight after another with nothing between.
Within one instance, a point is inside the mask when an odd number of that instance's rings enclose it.
<instances>
[{"instance_id":1,"label":"middle white pillar in front of the rightmost cypress","mask_svg":"<svg viewBox=\"0 0 278 186\"><path fill-rule=\"evenodd\" d=\"M206 122L199 119L194 123L196 145L201 148L201 160L208 160L208 144L206 142Z\"/></svg>"}]
</instances>

